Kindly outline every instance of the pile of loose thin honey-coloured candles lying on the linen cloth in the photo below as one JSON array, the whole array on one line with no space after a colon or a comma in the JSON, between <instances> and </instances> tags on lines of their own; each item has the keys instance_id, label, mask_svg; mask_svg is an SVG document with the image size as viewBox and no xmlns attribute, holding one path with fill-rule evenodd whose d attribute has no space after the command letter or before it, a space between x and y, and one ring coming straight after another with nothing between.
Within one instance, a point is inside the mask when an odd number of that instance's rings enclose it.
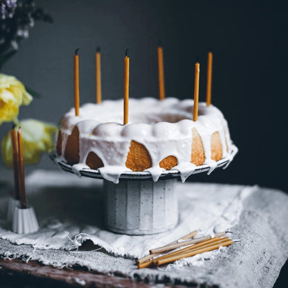
<instances>
[{"instance_id":1,"label":"pile of loose thin honey-coloured candles lying on the linen cloth","mask_svg":"<svg viewBox=\"0 0 288 288\"><path fill-rule=\"evenodd\" d=\"M233 240L226 237L226 232L194 238L196 234L197 231L192 231L188 235L185 235L170 244L151 249L149 255L136 260L138 268L142 269L149 267L150 265L158 266L174 262L182 258L213 251L220 247L233 244Z\"/></svg>"}]
</instances>

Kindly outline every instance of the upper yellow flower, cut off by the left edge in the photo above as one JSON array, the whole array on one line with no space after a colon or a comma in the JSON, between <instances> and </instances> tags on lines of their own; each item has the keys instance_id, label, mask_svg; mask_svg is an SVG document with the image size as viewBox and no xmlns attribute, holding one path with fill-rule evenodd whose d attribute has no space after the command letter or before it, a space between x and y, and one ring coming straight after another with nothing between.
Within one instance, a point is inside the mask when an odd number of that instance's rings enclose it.
<instances>
[{"instance_id":1,"label":"upper yellow flower, cut off by the left edge","mask_svg":"<svg viewBox=\"0 0 288 288\"><path fill-rule=\"evenodd\" d=\"M29 105L32 96L14 76L0 73L0 124L18 116L21 105Z\"/></svg>"}]
</instances>

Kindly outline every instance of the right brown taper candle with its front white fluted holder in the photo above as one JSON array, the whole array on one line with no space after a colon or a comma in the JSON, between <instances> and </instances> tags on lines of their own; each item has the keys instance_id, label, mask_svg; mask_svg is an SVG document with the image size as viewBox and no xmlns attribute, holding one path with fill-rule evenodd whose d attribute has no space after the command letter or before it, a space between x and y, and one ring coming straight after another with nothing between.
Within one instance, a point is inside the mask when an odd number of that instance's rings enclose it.
<instances>
[{"instance_id":1,"label":"right brown taper candle with its front white fluted holder","mask_svg":"<svg viewBox=\"0 0 288 288\"><path fill-rule=\"evenodd\" d=\"M12 231L15 233L33 233L39 229L37 217L34 208L27 206L25 175L23 161L23 146L21 127L17 131L18 138L18 161L19 161L19 183L20 183L20 205L15 207L12 219Z\"/></svg>"}]
</instances>

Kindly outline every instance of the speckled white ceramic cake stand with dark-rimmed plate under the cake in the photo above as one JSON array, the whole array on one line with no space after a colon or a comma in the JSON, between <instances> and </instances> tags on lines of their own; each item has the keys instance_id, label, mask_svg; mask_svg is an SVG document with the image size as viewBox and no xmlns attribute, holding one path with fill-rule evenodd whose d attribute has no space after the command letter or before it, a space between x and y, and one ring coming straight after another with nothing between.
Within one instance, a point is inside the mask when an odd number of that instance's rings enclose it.
<instances>
[{"instance_id":1,"label":"speckled white ceramic cake stand with dark-rimmed plate under the cake","mask_svg":"<svg viewBox=\"0 0 288 288\"><path fill-rule=\"evenodd\" d=\"M217 161L216 168L225 167L236 153L237 147L233 145L231 154ZM72 166L55 152L50 156L62 170L74 173ZM192 174L208 172L209 169L208 165L197 166ZM98 170L84 168L80 174L103 179ZM118 184L104 179L107 228L129 235L154 234L174 228L178 223L178 201L174 190L177 178L180 178L177 170L165 170L156 182L152 181L149 172L125 172Z\"/></svg>"}]
</instances>

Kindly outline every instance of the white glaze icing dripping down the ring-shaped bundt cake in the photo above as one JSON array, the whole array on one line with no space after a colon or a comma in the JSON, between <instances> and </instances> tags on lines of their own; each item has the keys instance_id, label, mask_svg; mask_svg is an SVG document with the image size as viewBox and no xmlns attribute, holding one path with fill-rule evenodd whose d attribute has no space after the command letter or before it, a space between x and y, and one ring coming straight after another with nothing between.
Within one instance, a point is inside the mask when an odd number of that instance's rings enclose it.
<instances>
[{"instance_id":1,"label":"white glaze icing dripping down the ring-shaped bundt cake","mask_svg":"<svg viewBox=\"0 0 288 288\"><path fill-rule=\"evenodd\" d=\"M221 111L213 105L207 107L205 102L200 102L196 122L192 120L192 110L193 100L190 99L166 98L159 101L155 98L130 98L129 123L122 125L122 99L105 100L98 105L87 103L80 107L80 116L75 116L72 108L60 122L62 156L67 138L77 125L80 132L80 163L73 165L73 172L78 176L82 168L87 168L85 163L89 152L94 152L104 164L99 169L102 177L118 183L120 174L131 171L125 162L130 142L134 140L143 144L150 153L152 167L145 171L152 174L154 181L163 172L159 162L172 155L178 160L178 165L172 169L179 171L184 182L197 167L190 163L192 128L196 128L204 147L204 164L210 167L210 174L216 167L216 162L211 159L210 145L214 132L219 132L222 141L222 157L228 157L231 152L228 124Z\"/></svg>"}]
</instances>

